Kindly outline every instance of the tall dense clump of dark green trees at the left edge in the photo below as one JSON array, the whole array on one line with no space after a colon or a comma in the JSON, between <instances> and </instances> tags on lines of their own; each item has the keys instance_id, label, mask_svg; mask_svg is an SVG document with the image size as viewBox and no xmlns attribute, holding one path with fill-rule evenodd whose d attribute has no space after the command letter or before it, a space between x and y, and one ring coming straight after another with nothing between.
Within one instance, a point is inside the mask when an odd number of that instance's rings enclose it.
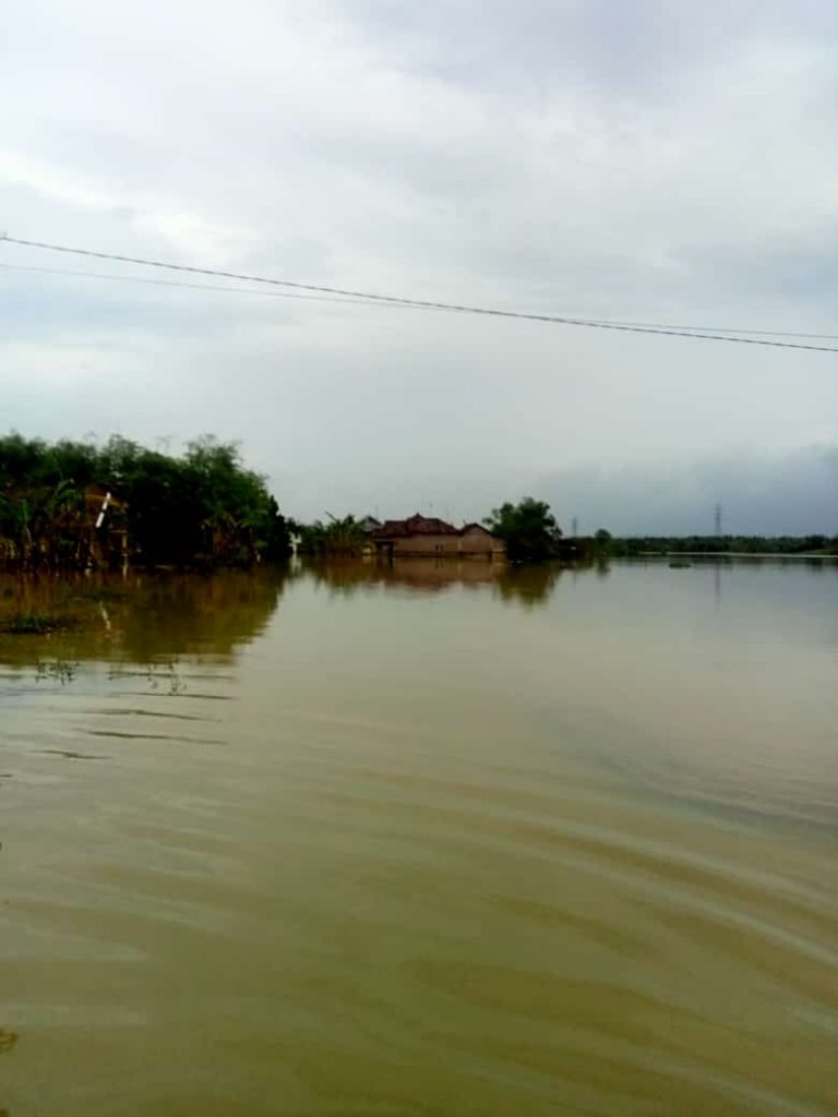
<instances>
[{"instance_id":1,"label":"tall dense clump of dark green trees at the left edge","mask_svg":"<svg viewBox=\"0 0 838 1117\"><path fill-rule=\"evenodd\" d=\"M118 557L212 569L289 552L288 524L235 445L204 437L170 455L118 436L103 446L0 437L2 567L79 570Z\"/></svg>"}]
</instances>

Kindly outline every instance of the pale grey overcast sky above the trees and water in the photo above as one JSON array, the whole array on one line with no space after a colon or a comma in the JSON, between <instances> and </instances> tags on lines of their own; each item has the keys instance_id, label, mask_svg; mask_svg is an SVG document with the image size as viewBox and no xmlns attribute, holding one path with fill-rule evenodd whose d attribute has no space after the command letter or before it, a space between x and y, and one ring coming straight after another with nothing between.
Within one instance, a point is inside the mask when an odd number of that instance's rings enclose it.
<instances>
[{"instance_id":1,"label":"pale grey overcast sky above the trees and water","mask_svg":"<svg viewBox=\"0 0 838 1117\"><path fill-rule=\"evenodd\" d=\"M2 44L9 236L838 335L834 0L9 0ZM0 265L3 430L238 439L302 517L838 532L836 354Z\"/></svg>"}]
</instances>

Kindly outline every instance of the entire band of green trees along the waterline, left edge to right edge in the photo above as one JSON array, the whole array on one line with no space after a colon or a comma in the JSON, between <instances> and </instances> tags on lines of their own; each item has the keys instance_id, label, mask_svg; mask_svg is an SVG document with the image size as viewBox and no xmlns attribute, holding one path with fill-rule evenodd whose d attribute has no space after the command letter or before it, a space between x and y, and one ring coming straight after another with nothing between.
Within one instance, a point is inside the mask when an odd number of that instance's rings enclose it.
<instances>
[{"instance_id":1,"label":"entire band of green trees along the waterline, left edge to right edge","mask_svg":"<svg viewBox=\"0 0 838 1117\"><path fill-rule=\"evenodd\" d=\"M282 515L266 479L244 465L237 447L211 437L171 455L118 436L104 445L0 436L0 570L250 567L287 561L294 545L316 560L392 557L388 527L392 534L415 522L444 533L440 552L450 544L455 554L465 553L459 540L468 534L472 550L477 541L489 557L511 562L674 552L838 554L838 537L826 535L618 538L600 529L569 537L550 506L532 497L463 528L421 516L384 525L370 516L296 524Z\"/></svg>"}]
</instances>

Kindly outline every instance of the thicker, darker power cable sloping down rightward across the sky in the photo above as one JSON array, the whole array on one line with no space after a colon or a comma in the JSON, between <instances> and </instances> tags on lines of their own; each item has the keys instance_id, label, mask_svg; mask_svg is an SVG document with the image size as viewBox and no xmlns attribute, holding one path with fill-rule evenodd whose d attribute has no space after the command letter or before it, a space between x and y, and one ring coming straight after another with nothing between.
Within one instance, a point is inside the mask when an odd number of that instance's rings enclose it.
<instances>
[{"instance_id":1,"label":"thicker, darker power cable sloping down rightward across the sky","mask_svg":"<svg viewBox=\"0 0 838 1117\"><path fill-rule=\"evenodd\" d=\"M810 350L820 353L838 353L838 347L830 345L809 345L801 342L778 342L768 337L743 337L741 334L722 332L699 332L697 328L684 330L665 325L630 325L628 323L606 322L594 318L572 318L553 314L531 314L523 311L501 311L493 307L469 306L459 303L432 302L430 299L406 298L398 295L379 295L370 292L352 290L350 288L330 287L323 284L306 284L292 279L273 279L265 276L254 276L237 271L223 271L220 268L190 267L185 264L169 264L163 260L147 260L135 256L120 256L115 252L99 252L89 248L70 248L66 245L51 245L39 240L22 240L17 237L0 235L0 241L20 245L23 248L38 248L50 252L68 252L73 256L86 256L99 260L116 260L121 264L137 264L141 267L164 268L170 271L183 271L190 275L218 276L223 279L238 279L245 283L266 284L273 287L288 287L294 290L313 292L321 295L339 295L349 299L366 303L382 303L396 306L413 306L426 311L456 311L460 314L479 314L496 318L517 318L527 322L550 322L564 326L583 326L593 330L616 330L622 333L657 334L666 337L694 337L699 341L733 342L740 345L768 345L772 349Z\"/></svg>"}]
</instances>

